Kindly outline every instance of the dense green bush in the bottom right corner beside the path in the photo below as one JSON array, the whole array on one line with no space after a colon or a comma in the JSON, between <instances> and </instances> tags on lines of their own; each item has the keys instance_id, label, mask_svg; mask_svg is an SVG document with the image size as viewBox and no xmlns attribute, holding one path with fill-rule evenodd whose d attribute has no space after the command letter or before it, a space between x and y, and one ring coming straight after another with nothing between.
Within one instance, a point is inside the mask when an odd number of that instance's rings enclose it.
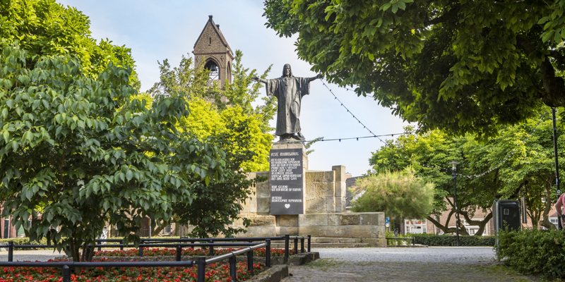
<instances>
[{"instance_id":1,"label":"dense green bush in the bottom right corner beside the path","mask_svg":"<svg viewBox=\"0 0 565 282\"><path fill-rule=\"evenodd\" d=\"M499 240L499 259L521 274L565 278L564 230L501 231Z\"/></svg>"}]
</instances>

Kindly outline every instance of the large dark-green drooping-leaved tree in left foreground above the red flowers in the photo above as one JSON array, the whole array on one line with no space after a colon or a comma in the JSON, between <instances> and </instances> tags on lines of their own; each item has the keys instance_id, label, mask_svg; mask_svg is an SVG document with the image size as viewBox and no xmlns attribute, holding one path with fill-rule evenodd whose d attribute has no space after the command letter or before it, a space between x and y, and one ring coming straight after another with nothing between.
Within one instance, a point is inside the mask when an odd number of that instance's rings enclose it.
<instances>
[{"instance_id":1,"label":"large dark-green drooping-leaved tree in left foreground above the red flowers","mask_svg":"<svg viewBox=\"0 0 565 282\"><path fill-rule=\"evenodd\" d=\"M0 54L0 199L30 240L80 261L83 240L93 244L108 222L138 243L141 219L169 221L177 203L198 199L190 188L232 173L217 146L179 137L184 97L155 97L147 109L131 99L131 68L110 62L92 79L72 56L34 68L27 59L17 46Z\"/></svg>"}]
</instances>

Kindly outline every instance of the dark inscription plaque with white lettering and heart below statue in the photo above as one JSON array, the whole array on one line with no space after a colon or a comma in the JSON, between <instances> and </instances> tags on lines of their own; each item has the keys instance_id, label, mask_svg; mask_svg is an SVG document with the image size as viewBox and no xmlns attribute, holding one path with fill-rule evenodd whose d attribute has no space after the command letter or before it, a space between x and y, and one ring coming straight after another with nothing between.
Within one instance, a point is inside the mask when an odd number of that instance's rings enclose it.
<instances>
[{"instance_id":1,"label":"dark inscription plaque with white lettering and heart below statue","mask_svg":"<svg viewBox=\"0 0 565 282\"><path fill-rule=\"evenodd\" d=\"M271 149L270 214L304 214L302 149Z\"/></svg>"}]
</instances>

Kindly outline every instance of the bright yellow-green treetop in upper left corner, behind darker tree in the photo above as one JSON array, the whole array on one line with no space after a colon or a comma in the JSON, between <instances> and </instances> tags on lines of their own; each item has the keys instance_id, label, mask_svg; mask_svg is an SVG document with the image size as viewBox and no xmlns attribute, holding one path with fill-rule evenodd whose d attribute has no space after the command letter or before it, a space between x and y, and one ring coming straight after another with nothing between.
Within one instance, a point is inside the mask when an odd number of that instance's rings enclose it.
<instances>
[{"instance_id":1,"label":"bright yellow-green treetop in upper left corner, behind darker tree","mask_svg":"<svg viewBox=\"0 0 565 282\"><path fill-rule=\"evenodd\" d=\"M0 49L18 43L30 55L26 68L33 68L42 56L66 54L77 57L89 78L105 71L109 62L135 68L131 49L113 45L109 39L97 44L90 37L89 27L88 16L55 0L0 2ZM141 83L135 71L131 71L129 81L139 90Z\"/></svg>"}]
</instances>

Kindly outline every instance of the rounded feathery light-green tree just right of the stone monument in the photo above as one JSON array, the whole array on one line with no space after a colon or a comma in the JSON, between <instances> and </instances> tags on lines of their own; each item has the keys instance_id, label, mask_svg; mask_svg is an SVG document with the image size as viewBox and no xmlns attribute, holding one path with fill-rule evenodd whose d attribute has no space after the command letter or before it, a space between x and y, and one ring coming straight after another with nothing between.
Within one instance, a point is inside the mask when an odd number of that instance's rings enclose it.
<instances>
[{"instance_id":1,"label":"rounded feathery light-green tree just right of the stone monument","mask_svg":"<svg viewBox=\"0 0 565 282\"><path fill-rule=\"evenodd\" d=\"M434 209L434 184L417 178L412 168L382 171L355 184L364 193L352 201L352 211L384 212L395 226L403 219L424 219Z\"/></svg>"}]
</instances>

